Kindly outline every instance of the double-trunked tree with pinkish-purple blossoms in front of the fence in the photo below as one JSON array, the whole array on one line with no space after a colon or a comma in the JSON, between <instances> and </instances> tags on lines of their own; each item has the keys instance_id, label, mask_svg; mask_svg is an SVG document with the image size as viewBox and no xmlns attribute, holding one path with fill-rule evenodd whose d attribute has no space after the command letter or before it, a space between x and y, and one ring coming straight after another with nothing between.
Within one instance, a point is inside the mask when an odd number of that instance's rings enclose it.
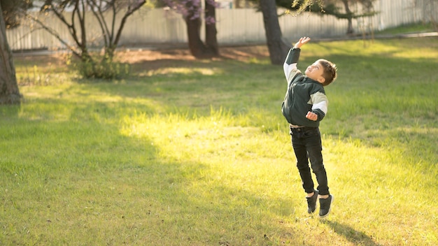
<instances>
[{"instance_id":1,"label":"double-trunked tree with pinkish-purple blossoms in front of the fence","mask_svg":"<svg viewBox=\"0 0 438 246\"><path fill-rule=\"evenodd\" d=\"M201 0L164 0L164 3L183 15L187 25L190 54L196 58L210 58L219 55L216 38L216 2L205 0L205 44L201 40L202 2Z\"/></svg>"}]
</instances>

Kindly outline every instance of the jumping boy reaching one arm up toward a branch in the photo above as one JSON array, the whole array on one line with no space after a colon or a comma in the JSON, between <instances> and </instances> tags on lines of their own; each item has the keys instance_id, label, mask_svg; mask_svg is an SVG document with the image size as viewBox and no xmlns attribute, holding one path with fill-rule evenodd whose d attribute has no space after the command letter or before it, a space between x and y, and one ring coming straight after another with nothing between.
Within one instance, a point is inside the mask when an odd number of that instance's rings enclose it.
<instances>
[{"instance_id":1,"label":"jumping boy reaching one arm up toward a branch","mask_svg":"<svg viewBox=\"0 0 438 246\"><path fill-rule=\"evenodd\" d=\"M292 147L297 157L297 168L302 179L302 187L307 194L307 212L315 212L319 195L319 216L327 217L333 196L329 192L327 173L323 165L319 122L327 113L328 101L324 86L330 85L336 78L337 68L330 61L318 59L306 68L305 75L303 75L297 69L297 62L300 48L309 41L308 37L299 38L285 59L283 70L288 81L288 91L281 110L290 124L290 135L292 136ZM317 189L313 188L308 159L318 181Z\"/></svg>"}]
</instances>

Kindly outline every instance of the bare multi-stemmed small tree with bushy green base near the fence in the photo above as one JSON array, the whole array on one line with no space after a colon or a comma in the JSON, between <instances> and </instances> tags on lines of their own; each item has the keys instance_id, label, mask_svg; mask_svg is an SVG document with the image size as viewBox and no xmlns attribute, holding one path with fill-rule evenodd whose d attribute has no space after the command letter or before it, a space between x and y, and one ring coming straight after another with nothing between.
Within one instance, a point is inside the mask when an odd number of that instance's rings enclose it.
<instances>
[{"instance_id":1,"label":"bare multi-stemmed small tree with bushy green base near the fence","mask_svg":"<svg viewBox=\"0 0 438 246\"><path fill-rule=\"evenodd\" d=\"M45 24L37 17L27 15L50 32L66 48L78 57L85 68L83 75L87 78L113 78L113 57L122 34L127 18L146 3L146 0L45 0L41 7L44 13L53 13L69 30L73 44L67 43L54 29ZM67 17L66 11L71 11ZM100 61L92 56L87 41L87 17L92 14L99 25L104 41L104 56ZM105 17L105 13L111 13L111 17ZM118 15L122 13L120 23L117 23ZM118 27L117 27L118 24Z\"/></svg>"}]
</instances>

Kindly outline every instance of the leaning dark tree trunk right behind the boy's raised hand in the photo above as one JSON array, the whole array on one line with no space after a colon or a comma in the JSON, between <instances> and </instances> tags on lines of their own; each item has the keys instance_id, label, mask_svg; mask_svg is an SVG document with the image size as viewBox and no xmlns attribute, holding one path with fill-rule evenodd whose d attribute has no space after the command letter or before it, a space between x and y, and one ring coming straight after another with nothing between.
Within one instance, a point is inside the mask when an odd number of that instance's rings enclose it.
<instances>
[{"instance_id":1,"label":"leaning dark tree trunk right behind the boy's raised hand","mask_svg":"<svg viewBox=\"0 0 438 246\"><path fill-rule=\"evenodd\" d=\"M269 50L271 64L281 65L284 62L290 45L283 41L280 24L278 23L275 0L260 0L263 13L264 32Z\"/></svg>"}]
</instances>

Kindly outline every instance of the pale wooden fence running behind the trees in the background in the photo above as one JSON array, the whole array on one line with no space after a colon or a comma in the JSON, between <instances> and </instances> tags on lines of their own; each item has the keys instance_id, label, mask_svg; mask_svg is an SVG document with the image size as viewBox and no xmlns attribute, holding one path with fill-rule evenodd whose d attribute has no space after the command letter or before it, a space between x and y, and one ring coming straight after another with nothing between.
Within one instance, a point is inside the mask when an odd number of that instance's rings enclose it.
<instances>
[{"instance_id":1,"label":"pale wooden fence running behind the trees in the background","mask_svg":"<svg viewBox=\"0 0 438 246\"><path fill-rule=\"evenodd\" d=\"M429 22L438 16L438 1L434 0L376 0L374 10L379 14L353 21L355 32L396 27L400 24ZM279 9L278 13L283 10ZM44 23L57 31L67 43L73 43L66 27L52 15L34 13ZM87 20L90 45L101 46L101 34L92 15ZM252 8L216 9L216 28L220 45L266 43L262 13ZM69 20L69 18L67 18ZM296 40L299 36L335 38L346 34L347 21L335 17L303 13L300 16L283 15L278 18L284 38ZM24 21L17 29L6 31L12 50L64 49L54 36L38 27L36 22ZM204 29L202 29L204 36ZM140 10L129 17L119 46L147 45L148 43L187 43L183 18L172 10L163 8Z\"/></svg>"}]
</instances>

